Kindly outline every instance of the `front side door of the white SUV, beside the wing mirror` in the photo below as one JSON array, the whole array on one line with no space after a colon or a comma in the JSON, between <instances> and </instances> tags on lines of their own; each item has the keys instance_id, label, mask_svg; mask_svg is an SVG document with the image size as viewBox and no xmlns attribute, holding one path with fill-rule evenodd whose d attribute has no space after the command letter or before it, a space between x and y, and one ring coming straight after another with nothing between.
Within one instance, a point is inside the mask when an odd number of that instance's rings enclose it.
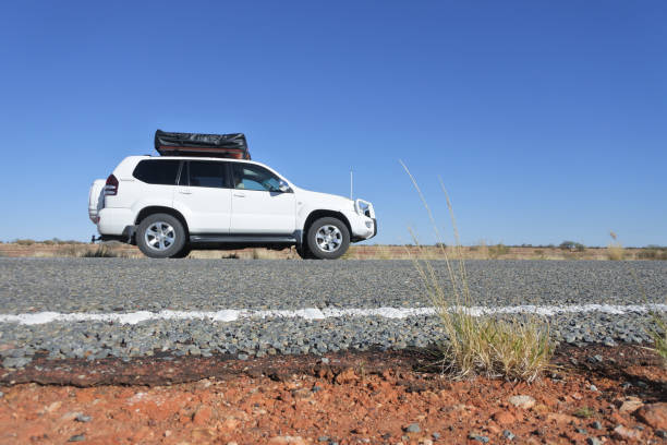
<instances>
[{"instance_id":1,"label":"front side door of the white SUV, beside the wing mirror","mask_svg":"<svg viewBox=\"0 0 667 445\"><path fill-rule=\"evenodd\" d=\"M280 178L245 163L229 163L232 191L231 233L291 234L296 228L294 193L278 189Z\"/></svg>"}]
</instances>

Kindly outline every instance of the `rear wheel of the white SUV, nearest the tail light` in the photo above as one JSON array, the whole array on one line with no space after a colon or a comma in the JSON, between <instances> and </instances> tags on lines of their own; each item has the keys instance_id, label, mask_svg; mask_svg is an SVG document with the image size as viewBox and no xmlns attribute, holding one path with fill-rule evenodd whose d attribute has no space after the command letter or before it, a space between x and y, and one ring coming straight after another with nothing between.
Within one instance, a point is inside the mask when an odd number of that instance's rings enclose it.
<instances>
[{"instance_id":1,"label":"rear wheel of the white SUV, nearest the tail light","mask_svg":"<svg viewBox=\"0 0 667 445\"><path fill-rule=\"evenodd\" d=\"M185 229L181 221L168 214L153 214L136 229L136 245L151 258L172 258L185 248Z\"/></svg>"}]
</instances>

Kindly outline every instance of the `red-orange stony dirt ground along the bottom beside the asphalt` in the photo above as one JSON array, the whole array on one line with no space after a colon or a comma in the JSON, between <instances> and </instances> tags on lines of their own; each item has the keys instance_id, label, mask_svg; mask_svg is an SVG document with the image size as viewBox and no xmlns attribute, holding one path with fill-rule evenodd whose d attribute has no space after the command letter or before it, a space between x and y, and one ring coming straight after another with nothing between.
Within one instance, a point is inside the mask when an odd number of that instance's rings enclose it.
<instances>
[{"instance_id":1,"label":"red-orange stony dirt ground along the bottom beside the asphalt","mask_svg":"<svg viewBox=\"0 0 667 445\"><path fill-rule=\"evenodd\" d=\"M451 381L424 352L327 359L36 360L0 375L0 443L667 443L667 371L639 347L562 349L530 385Z\"/></svg>"}]
</instances>

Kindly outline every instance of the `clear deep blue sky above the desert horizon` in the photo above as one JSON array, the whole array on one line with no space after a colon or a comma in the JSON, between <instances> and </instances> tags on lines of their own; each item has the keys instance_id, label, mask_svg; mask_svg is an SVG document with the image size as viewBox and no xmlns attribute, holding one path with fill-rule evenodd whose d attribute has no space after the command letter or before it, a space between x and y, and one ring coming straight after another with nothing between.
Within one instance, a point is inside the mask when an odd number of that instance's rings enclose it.
<instances>
[{"instance_id":1,"label":"clear deep blue sky above the desert horizon","mask_svg":"<svg viewBox=\"0 0 667 445\"><path fill-rule=\"evenodd\" d=\"M667 244L663 1L3 2L0 239L89 239L90 182L156 129L244 132L378 243ZM446 239L451 242L451 239Z\"/></svg>"}]
</instances>

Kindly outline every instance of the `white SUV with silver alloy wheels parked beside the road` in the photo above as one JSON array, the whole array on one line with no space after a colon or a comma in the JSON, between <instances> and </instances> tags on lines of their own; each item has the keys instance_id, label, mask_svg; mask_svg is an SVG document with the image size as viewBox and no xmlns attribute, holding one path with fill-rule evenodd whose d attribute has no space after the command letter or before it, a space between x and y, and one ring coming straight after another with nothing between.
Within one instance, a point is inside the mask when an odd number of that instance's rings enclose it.
<instances>
[{"instance_id":1,"label":"white SUV with silver alloy wheels parked beside the road","mask_svg":"<svg viewBox=\"0 0 667 445\"><path fill-rule=\"evenodd\" d=\"M373 205L300 189L251 160L130 156L93 183L88 215L102 241L150 257L193 249L296 245L304 258L340 257L377 233Z\"/></svg>"}]
</instances>

